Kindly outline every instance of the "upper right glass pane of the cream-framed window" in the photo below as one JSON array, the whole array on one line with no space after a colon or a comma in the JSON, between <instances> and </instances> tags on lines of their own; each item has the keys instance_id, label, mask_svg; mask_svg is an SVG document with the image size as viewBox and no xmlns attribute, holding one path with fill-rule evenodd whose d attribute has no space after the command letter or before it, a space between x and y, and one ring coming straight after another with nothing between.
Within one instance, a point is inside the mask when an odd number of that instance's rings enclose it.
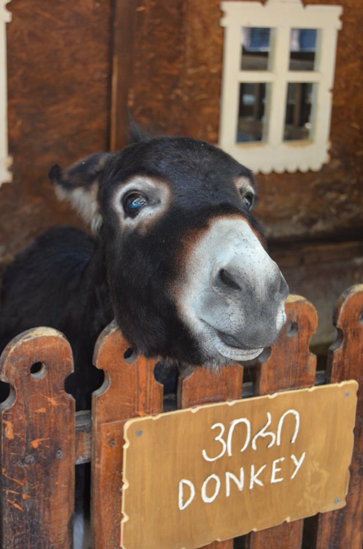
<instances>
[{"instance_id":1,"label":"upper right glass pane of the cream-framed window","mask_svg":"<svg viewBox=\"0 0 363 549\"><path fill-rule=\"evenodd\" d=\"M314 70L316 29L291 29L289 70Z\"/></svg>"}]
</instances>

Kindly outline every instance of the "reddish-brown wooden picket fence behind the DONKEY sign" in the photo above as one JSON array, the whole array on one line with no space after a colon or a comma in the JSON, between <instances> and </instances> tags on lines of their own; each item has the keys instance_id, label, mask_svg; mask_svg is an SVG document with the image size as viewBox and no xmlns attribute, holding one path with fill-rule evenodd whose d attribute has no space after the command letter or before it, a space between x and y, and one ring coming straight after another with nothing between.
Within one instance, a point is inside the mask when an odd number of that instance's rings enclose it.
<instances>
[{"instance_id":1,"label":"reddish-brown wooden picket fence behind the DONKEY sign","mask_svg":"<svg viewBox=\"0 0 363 549\"><path fill-rule=\"evenodd\" d=\"M304 298L290 296L286 313L279 340L268 360L257 367L253 391L249 386L248 395L243 394L246 384L240 366L223 368L217 377L197 368L180 379L178 407L314 385L316 357L309 351L309 340L318 322L316 311ZM334 323L337 340L329 352L326 383L356 379L360 384L363 285L341 296ZM116 326L103 331L94 363L105 372L105 383L93 395L92 410L77 413L74 400L64 390L65 378L72 372L72 353L62 334L50 328L29 330L4 350L0 378L14 390L1 405L1 547L72 547L74 463L89 461L93 545L97 549L119 546L123 426L126 419L163 411L162 386L153 376L155 361L139 356L129 363L124 359L127 349ZM361 549L362 406L359 390L347 506L240 539L214 542L204 549ZM324 417L316 421L324 429Z\"/></svg>"}]
</instances>

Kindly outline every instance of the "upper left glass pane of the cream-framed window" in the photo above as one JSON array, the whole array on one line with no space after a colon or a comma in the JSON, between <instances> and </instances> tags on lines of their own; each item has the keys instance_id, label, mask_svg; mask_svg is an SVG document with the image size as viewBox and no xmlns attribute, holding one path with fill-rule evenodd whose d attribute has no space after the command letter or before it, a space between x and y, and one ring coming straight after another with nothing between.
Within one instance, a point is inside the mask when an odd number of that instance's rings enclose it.
<instances>
[{"instance_id":1,"label":"upper left glass pane of the cream-framed window","mask_svg":"<svg viewBox=\"0 0 363 549\"><path fill-rule=\"evenodd\" d=\"M241 70L267 70L271 51L271 29L243 27L241 36Z\"/></svg>"}]
</instances>

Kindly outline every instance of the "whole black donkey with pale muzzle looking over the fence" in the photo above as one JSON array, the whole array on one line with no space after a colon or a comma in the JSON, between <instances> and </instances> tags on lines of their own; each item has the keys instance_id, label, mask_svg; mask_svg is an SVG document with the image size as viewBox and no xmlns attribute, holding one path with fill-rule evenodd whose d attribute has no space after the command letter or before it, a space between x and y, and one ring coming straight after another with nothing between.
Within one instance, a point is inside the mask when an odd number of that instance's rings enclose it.
<instances>
[{"instance_id":1,"label":"whole black donkey with pale muzzle looking over the fence","mask_svg":"<svg viewBox=\"0 0 363 549\"><path fill-rule=\"evenodd\" d=\"M285 322L287 284L252 215L250 170L186 137L142 139L50 179L94 236L55 227L7 267L0 351L19 332L51 326L73 349L77 409L100 385L92 354L116 319L132 349L191 366L252 360Z\"/></svg>"}]
</instances>

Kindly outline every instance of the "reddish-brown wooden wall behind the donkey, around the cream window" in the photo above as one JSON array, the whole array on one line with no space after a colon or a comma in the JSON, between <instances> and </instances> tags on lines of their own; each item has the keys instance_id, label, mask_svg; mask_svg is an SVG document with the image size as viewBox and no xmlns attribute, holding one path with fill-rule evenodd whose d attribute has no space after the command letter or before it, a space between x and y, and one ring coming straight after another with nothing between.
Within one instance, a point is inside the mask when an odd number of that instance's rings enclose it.
<instances>
[{"instance_id":1,"label":"reddish-brown wooden wall behind the donkey, around the cream window","mask_svg":"<svg viewBox=\"0 0 363 549\"><path fill-rule=\"evenodd\" d=\"M304 1L343 6L331 162L319 172L257 175L261 200L256 216L277 247L286 241L301 242L299 247L314 239L363 238L362 4ZM219 4L220 0L8 4L13 14L7 29L14 181L0 189L0 264L48 226L82 225L67 205L56 201L47 178L49 167L122 147L128 132L126 107L157 132L217 142L223 44ZM293 278L298 278L304 261L301 250L278 255L287 267L293 257ZM352 283L363 276L359 265ZM348 284L344 278L341 289ZM302 292L298 284L292 285ZM332 300L336 297L335 293Z\"/></svg>"}]
</instances>

